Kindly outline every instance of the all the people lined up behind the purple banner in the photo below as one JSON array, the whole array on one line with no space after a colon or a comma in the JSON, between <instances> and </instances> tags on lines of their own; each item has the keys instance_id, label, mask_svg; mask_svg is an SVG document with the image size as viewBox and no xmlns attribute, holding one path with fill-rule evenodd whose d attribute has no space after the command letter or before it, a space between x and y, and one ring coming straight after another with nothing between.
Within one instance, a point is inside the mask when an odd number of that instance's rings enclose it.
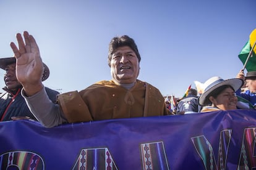
<instances>
[{"instance_id":1,"label":"all the people lined up behind the purple banner","mask_svg":"<svg viewBox=\"0 0 256 170\"><path fill-rule=\"evenodd\" d=\"M102 119L234 110L239 108L237 95L256 105L256 71L246 76L240 71L236 78L208 79L200 95L197 89L189 89L187 97L176 101L176 108L170 109L169 101L155 86L137 79L141 57L134 39L127 35L116 36L109 42L111 80L98 81L82 91L59 94L43 85L49 68L42 62L33 36L24 31L23 36L18 33L16 38L17 45L11 42L14 57L0 59L0 68L6 70L6 92L0 100L1 121L30 118L45 127L54 127ZM243 92L242 87L248 90Z\"/></svg>"}]
</instances>

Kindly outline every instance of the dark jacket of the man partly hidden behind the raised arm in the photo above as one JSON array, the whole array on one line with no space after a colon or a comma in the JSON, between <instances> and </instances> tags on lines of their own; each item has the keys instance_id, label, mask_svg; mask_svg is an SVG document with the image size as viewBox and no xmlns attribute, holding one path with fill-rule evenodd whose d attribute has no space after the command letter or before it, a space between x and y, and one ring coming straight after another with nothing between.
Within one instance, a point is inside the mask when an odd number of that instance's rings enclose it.
<instances>
[{"instance_id":1,"label":"dark jacket of the man partly hidden behind the raised arm","mask_svg":"<svg viewBox=\"0 0 256 170\"><path fill-rule=\"evenodd\" d=\"M6 87L3 88L6 92L0 94L0 121L9 121L12 116L28 116L36 120L21 95L21 89L22 87L17 91L10 91ZM56 103L59 92L49 89L48 87L45 87L45 90L49 99Z\"/></svg>"}]
</instances>

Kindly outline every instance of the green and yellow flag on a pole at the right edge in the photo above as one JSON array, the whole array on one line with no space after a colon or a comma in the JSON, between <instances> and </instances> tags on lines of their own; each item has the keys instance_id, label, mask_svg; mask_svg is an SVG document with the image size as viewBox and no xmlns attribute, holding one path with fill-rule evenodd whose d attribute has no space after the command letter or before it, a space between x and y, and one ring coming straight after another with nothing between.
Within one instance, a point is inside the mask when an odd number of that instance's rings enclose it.
<instances>
[{"instance_id":1,"label":"green and yellow flag on a pole at the right edge","mask_svg":"<svg viewBox=\"0 0 256 170\"><path fill-rule=\"evenodd\" d=\"M250 33L249 40L246 42L242 51L238 55L247 71L256 71L256 29ZM250 56L249 56L250 55ZM247 59L248 58L248 59Z\"/></svg>"}]
</instances>

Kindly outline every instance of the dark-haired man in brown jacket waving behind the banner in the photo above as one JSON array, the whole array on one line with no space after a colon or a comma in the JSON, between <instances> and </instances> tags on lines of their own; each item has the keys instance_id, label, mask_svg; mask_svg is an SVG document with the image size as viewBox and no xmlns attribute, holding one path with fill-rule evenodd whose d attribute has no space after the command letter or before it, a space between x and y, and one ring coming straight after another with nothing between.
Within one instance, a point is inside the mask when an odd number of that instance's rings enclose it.
<instances>
[{"instance_id":1,"label":"dark-haired man in brown jacket waving behind the banner","mask_svg":"<svg viewBox=\"0 0 256 170\"><path fill-rule=\"evenodd\" d=\"M25 42L20 33L16 37L19 49L14 42L11 42L11 48L17 59L17 78L23 85L22 95L33 114L45 127L63 123L171 114L160 91L137 79L140 54L134 39L127 35L116 36L109 42L108 65L111 80L99 81L80 92L58 95L56 105L48 99L38 76L43 64L35 39L27 31L23 32ZM31 75L33 79L28 78ZM38 99L44 104L36 102Z\"/></svg>"}]
</instances>

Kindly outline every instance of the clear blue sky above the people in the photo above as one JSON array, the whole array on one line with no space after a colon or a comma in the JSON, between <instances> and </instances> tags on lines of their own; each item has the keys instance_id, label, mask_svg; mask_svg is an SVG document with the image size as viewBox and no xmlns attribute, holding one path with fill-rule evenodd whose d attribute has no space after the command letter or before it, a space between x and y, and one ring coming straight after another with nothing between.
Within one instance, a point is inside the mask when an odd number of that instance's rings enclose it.
<instances>
[{"instance_id":1,"label":"clear blue sky above the people","mask_svg":"<svg viewBox=\"0 0 256 170\"><path fill-rule=\"evenodd\" d=\"M242 69L237 55L256 28L255 6L255 0L0 0L0 57L11 57L9 43L27 30L50 69L45 86L80 91L111 79L109 41L127 34L142 57L139 79L182 97L194 81L234 78Z\"/></svg>"}]
</instances>

